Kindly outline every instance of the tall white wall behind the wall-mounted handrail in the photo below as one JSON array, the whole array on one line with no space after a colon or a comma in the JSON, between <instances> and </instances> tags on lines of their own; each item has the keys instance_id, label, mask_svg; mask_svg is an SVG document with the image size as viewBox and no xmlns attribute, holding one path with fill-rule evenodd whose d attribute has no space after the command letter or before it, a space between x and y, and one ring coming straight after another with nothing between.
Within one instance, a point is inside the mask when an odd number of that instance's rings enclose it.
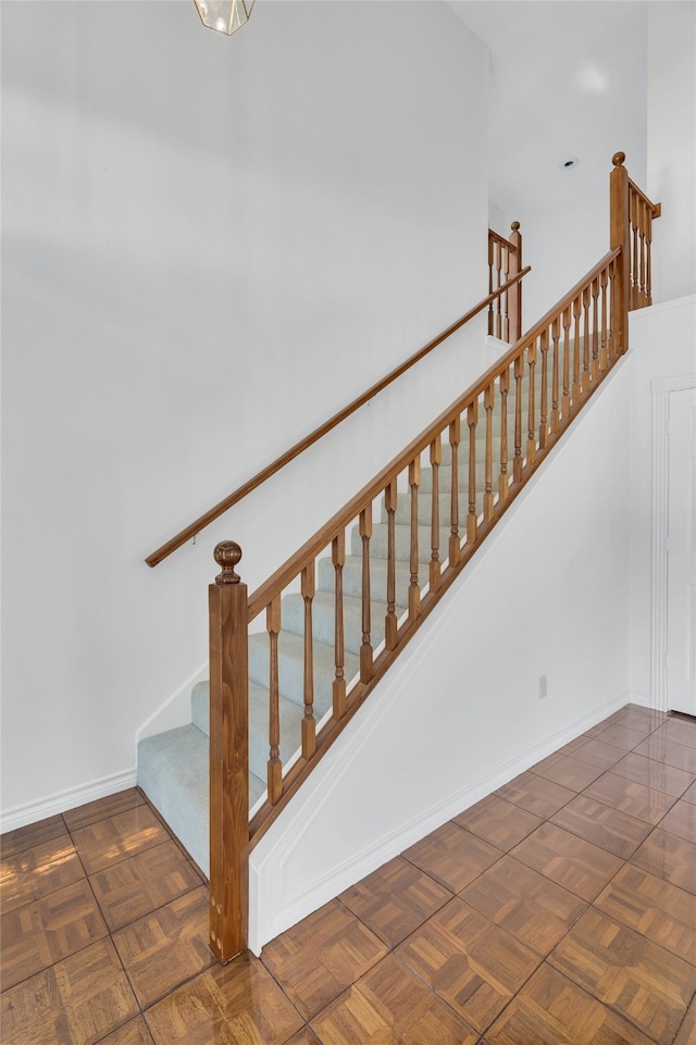
<instances>
[{"instance_id":1,"label":"tall white wall behind the wall-mounted handrail","mask_svg":"<svg viewBox=\"0 0 696 1045\"><path fill-rule=\"evenodd\" d=\"M1 14L9 826L133 781L216 540L254 587L480 370L485 318L144 564L486 294L487 52L444 3Z\"/></svg>"}]
</instances>

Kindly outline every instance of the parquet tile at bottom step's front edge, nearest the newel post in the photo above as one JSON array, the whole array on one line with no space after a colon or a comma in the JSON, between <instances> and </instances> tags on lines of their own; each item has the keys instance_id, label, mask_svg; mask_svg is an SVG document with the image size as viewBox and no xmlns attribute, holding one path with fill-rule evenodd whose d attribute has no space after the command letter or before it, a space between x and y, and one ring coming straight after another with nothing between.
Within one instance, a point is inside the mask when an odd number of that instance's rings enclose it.
<instances>
[{"instance_id":1,"label":"parquet tile at bottom step's front edge, nearest the newel post","mask_svg":"<svg viewBox=\"0 0 696 1045\"><path fill-rule=\"evenodd\" d=\"M145 849L90 876L109 929L113 932L201 885L173 842Z\"/></svg>"}]
</instances>

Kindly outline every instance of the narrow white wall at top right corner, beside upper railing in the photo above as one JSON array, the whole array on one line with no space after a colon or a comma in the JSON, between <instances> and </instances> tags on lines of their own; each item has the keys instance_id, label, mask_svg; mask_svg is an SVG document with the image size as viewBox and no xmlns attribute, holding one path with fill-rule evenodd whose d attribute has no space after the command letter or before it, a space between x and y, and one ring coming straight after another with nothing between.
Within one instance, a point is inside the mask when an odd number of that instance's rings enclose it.
<instances>
[{"instance_id":1,"label":"narrow white wall at top right corner, beside upper railing","mask_svg":"<svg viewBox=\"0 0 696 1045\"><path fill-rule=\"evenodd\" d=\"M696 290L696 5L648 4L648 182L656 302Z\"/></svg>"}]
</instances>

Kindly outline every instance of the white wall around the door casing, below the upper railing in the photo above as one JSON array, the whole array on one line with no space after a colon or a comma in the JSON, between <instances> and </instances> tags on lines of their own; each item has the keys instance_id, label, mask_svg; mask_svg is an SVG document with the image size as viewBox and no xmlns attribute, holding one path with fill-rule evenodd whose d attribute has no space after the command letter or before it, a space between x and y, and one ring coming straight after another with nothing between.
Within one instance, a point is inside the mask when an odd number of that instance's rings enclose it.
<instances>
[{"instance_id":1,"label":"white wall around the door casing, below the upper railing","mask_svg":"<svg viewBox=\"0 0 696 1045\"><path fill-rule=\"evenodd\" d=\"M666 301L630 315L631 352L631 674L637 699L656 706L658 684L652 663L657 637L654 614L654 508L656 461L652 455L655 414L652 383L696 374L696 296ZM659 477L667 483L667 476ZM657 496L657 492L656 492ZM656 549L656 555L660 551Z\"/></svg>"}]
</instances>

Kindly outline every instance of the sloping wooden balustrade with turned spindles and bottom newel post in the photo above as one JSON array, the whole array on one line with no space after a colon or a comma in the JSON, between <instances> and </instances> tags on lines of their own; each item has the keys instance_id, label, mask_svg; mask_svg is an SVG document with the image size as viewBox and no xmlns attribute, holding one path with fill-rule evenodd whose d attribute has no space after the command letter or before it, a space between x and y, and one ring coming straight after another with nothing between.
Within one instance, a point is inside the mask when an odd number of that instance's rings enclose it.
<instances>
[{"instance_id":1,"label":"sloping wooden balustrade with turned spindles and bottom newel post","mask_svg":"<svg viewBox=\"0 0 696 1045\"><path fill-rule=\"evenodd\" d=\"M610 177L611 249L529 333L337 512L247 600L235 572L241 550L215 548L221 573L210 586L211 658L211 943L226 961L247 945L247 875L251 847L341 733L443 594L501 519L580 410L627 348L627 312L650 298L649 265L632 262L632 239L650 241L659 213L643 197L631 211L623 153ZM643 201L647 203L644 206ZM639 251L638 251L639 254ZM641 284L644 278L645 283ZM633 293L636 285L641 294ZM448 475L446 496L444 474ZM375 508L385 548L371 553ZM396 517L408 547L397 548ZM361 642L347 677L344 624L348 527L353 588L360 592ZM398 563L402 556L405 561ZM381 564L383 563L383 564ZM333 588L333 683L328 710L315 707L312 602L318 564ZM333 584L327 585L327 575ZM278 636L283 595L303 606L304 713L299 755L281 760ZM386 606L384 620L372 605ZM268 633L268 795L248 813L248 625L265 615Z\"/></svg>"}]
</instances>

